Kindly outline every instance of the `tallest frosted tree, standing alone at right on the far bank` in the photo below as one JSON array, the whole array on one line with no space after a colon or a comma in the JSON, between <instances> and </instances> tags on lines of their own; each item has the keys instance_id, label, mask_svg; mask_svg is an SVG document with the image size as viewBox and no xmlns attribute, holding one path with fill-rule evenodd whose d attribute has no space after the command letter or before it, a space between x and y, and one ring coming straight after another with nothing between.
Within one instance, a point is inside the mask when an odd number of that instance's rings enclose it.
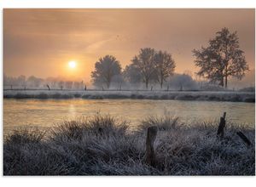
<instances>
[{"instance_id":1,"label":"tallest frosted tree, standing alone at right on the far bank","mask_svg":"<svg viewBox=\"0 0 256 187\"><path fill-rule=\"evenodd\" d=\"M197 74L227 88L228 77L241 80L248 71L248 65L244 52L239 48L236 31L230 33L223 28L216 35L207 48L194 49L192 52L196 58L195 65L201 68Z\"/></svg>"}]
</instances>

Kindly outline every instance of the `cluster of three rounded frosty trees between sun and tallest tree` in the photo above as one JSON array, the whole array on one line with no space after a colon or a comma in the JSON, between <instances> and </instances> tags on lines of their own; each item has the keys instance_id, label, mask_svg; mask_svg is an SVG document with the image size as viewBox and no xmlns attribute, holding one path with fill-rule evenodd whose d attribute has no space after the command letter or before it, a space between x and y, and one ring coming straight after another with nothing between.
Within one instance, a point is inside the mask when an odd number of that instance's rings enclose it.
<instances>
[{"instance_id":1,"label":"cluster of three rounded frosty trees between sun and tallest tree","mask_svg":"<svg viewBox=\"0 0 256 187\"><path fill-rule=\"evenodd\" d=\"M121 65L112 55L100 58L95 65L95 71L91 72L92 82L96 86L109 88L111 82L144 82L148 88L149 82L159 82L160 88L167 77L172 76L175 70L175 62L172 54L166 51L156 51L154 48L142 48L139 54L131 59L131 65L126 65L121 71Z\"/></svg>"}]
</instances>

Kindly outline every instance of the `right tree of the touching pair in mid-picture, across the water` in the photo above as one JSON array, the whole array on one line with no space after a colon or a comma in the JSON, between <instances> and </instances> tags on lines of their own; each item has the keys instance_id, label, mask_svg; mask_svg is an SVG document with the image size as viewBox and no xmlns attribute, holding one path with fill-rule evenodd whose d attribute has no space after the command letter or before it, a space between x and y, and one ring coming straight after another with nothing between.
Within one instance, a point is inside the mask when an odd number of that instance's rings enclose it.
<instances>
[{"instance_id":1,"label":"right tree of the touching pair in mid-picture, across the water","mask_svg":"<svg viewBox=\"0 0 256 187\"><path fill-rule=\"evenodd\" d=\"M163 88L163 82L166 81L167 77L173 75L176 67L172 54L168 54L166 51L159 51L154 56L154 63L157 81L160 83L160 88Z\"/></svg>"}]
</instances>

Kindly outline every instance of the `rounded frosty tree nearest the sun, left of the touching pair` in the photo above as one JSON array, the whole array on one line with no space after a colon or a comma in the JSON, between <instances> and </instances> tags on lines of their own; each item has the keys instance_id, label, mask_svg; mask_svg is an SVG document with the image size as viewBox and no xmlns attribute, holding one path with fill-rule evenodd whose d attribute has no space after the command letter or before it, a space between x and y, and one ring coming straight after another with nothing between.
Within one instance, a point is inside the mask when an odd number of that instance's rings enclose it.
<instances>
[{"instance_id":1,"label":"rounded frosty tree nearest the sun, left of the touching pair","mask_svg":"<svg viewBox=\"0 0 256 187\"><path fill-rule=\"evenodd\" d=\"M112 55L100 58L95 64L95 71L91 72L93 84L102 88L103 85L109 88L113 77L119 75L121 75L121 65Z\"/></svg>"}]
</instances>

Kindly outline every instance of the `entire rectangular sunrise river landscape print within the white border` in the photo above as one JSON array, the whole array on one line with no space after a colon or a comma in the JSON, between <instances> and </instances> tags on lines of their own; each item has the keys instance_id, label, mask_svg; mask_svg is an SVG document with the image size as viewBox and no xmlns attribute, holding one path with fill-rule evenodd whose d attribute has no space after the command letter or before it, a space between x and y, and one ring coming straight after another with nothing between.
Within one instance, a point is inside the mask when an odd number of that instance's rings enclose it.
<instances>
[{"instance_id":1,"label":"entire rectangular sunrise river landscape print within the white border","mask_svg":"<svg viewBox=\"0 0 256 187\"><path fill-rule=\"evenodd\" d=\"M3 9L3 175L255 175L254 42L253 8Z\"/></svg>"}]
</instances>

